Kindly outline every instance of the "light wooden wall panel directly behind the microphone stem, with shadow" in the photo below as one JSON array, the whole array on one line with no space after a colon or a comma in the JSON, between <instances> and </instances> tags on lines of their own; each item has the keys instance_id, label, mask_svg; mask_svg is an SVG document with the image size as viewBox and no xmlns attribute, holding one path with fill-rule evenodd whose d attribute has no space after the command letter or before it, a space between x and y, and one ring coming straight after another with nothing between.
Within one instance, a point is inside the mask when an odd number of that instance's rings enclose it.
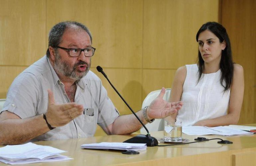
<instances>
[{"instance_id":1,"label":"light wooden wall panel directly behind the microphone stem, with shadow","mask_svg":"<svg viewBox=\"0 0 256 166\"><path fill-rule=\"evenodd\" d=\"M122 99L116 94L114 89L110 86L106 78L95 68L91 69L95 74L97 74L102 81L102 84L108 92L108 96L114 103L115 107L118 109L121 115L131 114L131 111ZM107 74L108 79L123 96L130 107L135 111L139 111L141 108L141 90L142 90L142 70L141 69L104 69ZM136 74L135 74L136 73Z\"/></svg>"}]
</instances>

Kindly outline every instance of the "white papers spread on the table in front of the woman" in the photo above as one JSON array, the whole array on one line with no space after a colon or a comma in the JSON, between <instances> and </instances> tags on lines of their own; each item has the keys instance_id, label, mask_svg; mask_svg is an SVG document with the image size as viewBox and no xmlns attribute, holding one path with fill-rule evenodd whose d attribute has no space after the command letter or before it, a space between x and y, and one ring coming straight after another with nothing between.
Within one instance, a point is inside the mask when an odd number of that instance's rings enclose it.
<instances>
[{"instance_id":1,"label":"white papers spread on the table in front of the woman","mask_svg":"<svg viewBox=\"0 0 256 166\"><path fill-rule=\"evenodd\" d=\"M224 126L217 127L206 127L206 126L183 126L182 132L188 135L209 135L217 134L223 136L233 136L233 135L249 135L253 132L247 132L243 130L233 129Z\"/></svg>"}]
</instances>

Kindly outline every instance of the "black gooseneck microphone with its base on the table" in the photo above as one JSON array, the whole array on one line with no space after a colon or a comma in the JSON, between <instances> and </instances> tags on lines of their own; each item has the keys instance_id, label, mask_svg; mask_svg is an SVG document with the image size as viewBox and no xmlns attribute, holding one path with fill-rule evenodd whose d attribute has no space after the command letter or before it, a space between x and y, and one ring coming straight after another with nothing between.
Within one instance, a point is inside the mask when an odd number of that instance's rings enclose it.
<instances>
[{"instance_id":1,"label":"black gooseneck microphone with its base on the table","mask_svg":"<svg viewBox=\"0 0 256 166\"><path fill-rule=\"evenodd\" d=\"M135 112L132 110L132 108L127 104L127 102L124 100L124 98L120 95L120 93L116 90L116 88L114 87L114 85L112 85L112 83L109 81L107 75L104 73L102 67L97 66L96 67L98 72L100 72L101 74L103 74L103 76L108 80L109 84L112 86L112 88L116 91L116 93L118 94L118 96L124 101L124 103L126 104L126 106L131 110L131 112L133 113L133 115L138 119L138 121L142 124L142 126L146 129L147 131L147 135L143 135L143 134L139 134L136 135L135 137L132 137L130 139L127 139L126 143L146 143L147 146L157 146L158 145L158 141L156 138L150 136L150 133L147 129L147 127L142 123L142 121L139 119L139 117L135 114Z\"/></svg>"}]
</instances>

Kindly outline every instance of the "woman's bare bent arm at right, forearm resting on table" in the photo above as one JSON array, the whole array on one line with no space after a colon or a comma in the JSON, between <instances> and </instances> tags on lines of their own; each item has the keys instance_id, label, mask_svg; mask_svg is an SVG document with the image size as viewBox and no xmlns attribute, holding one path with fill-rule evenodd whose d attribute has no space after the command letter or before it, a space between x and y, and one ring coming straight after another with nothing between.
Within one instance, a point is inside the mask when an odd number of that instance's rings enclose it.
<instances>
[{"instance_id":1,"label":"woman's bare bent arm at right, forearm resting on table","mask_svg":"<svg viewBox=\"0 0 256 166\"><path fill-rule=\"evenodd\" d=\"M228 114L214 118L198 121L194 125L200 126L224 126L229 124L237 124L240 117L241 107L244 96L244 71L243 67L239 64L234 64L234 76L230 89L230 99ZM218 103L216 103L218 104Z\"/></svg>"}]
</instances>

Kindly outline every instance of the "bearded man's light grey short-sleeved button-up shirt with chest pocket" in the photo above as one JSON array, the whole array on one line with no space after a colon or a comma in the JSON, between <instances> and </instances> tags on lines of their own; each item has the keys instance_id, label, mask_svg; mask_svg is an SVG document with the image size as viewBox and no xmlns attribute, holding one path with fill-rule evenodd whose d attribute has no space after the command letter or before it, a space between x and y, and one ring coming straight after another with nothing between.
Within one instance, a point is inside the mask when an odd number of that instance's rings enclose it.
<instances>
[{"instance_id":1,"label":"bearded man's light grey short-sleeved button-up shirt with chest pocket","mask_svg":"<svg viewBox=\"0 0 256 166\"><path fill-rule=\"evenodd\" d=\"M74 102L83 105L84 109L93 109L94 115L83 114L68 124L56 127L31 141L91 137L95 133L96 124L106 127L119 116L101 80L92 71L76 81L76 87ZM2 111L8 110L21 119L46 113L48 89L53 91L57 104L70 102L64 84L45 55L15 78L7 92Z\"/></svg>"}]
</instances>

